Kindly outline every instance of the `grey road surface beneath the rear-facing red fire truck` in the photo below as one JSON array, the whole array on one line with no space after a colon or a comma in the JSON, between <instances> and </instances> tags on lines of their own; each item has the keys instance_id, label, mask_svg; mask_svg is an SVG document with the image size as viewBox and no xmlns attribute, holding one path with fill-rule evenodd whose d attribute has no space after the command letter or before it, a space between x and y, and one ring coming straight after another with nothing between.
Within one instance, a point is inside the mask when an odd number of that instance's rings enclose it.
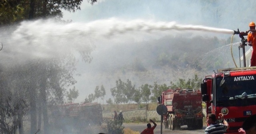
<instances>
[{"instance_id":1,"label":"grey road surface beneath the rear-facing red fire truck","mask_svg":"<svg viewBox=\"0 0 256 134\"><path fill-rule=\"evenodd\" d=\"M160 134L161 132L161 125L160 123L156 123L157 126L154 130L154 134ZM146 123L145 124L136 124L136 123L129 123L129 124L123 124L124 127L130 128L134 131L139 131L142 132L146 128ZM152 124L153 125L153 124ZM163 126L162 134L204 134L204 129L206 126L204 126L201 130L189 130L187 126L182 126L180 130L170 130L170 129L165 129Z\"/></svg>"}]
</instances>

